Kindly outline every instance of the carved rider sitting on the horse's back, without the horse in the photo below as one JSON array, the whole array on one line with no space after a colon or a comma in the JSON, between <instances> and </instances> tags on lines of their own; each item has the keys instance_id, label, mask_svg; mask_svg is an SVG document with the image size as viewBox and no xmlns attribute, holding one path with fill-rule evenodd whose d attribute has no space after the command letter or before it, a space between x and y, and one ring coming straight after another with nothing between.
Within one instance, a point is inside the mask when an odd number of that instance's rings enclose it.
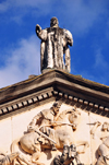
<instances>
[{"instance_id":1,"label":"carved rider sitting on the horse's back, without the horse","mask_svg":"<svg viewBox=\"0 0 109 165\"><path fill-rule=\"evenodd\" d=\"M56 102L50 109L45 109L36 115L32 122L27 127L27 131L38 131L41 128L41 131L49 137L49 132L52 134L52 139L55 139L55 131L53 129L48 129L48 127L56 126L55 121L59 115L59 108L61 106L61 102ZM48 130L48 131L47 131ZM48 133L47 133L48 132ZM39 133L39 131L38 131ZM41 133L41 132L40 132ZM40 134L39 133L39 134ZM43 134L44 137L45 134ZM47 138L47 137L45 137ZM49 139L50 140L50 139ZM52 145L52 150L57 150L55 146L55 141L50 140L50 144Z\"/></svg>"}]
</instances>

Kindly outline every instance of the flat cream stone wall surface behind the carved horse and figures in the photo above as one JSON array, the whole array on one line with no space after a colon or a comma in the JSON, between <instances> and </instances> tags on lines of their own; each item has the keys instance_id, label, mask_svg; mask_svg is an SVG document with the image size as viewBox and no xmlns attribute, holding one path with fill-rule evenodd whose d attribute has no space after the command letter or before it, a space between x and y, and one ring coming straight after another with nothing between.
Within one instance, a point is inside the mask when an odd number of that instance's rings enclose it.
<instances>
[{"instance_id":1,"label":"flat cream stone wall surface behind the carved horse and figures","mask_svg":"<svg viewBox=\"0 0 109 165\"><path fill-rule=\"evenodd\" d=\"M10 149L12 142L21 138L24 132L27 131L28 123L39 111L50 108L53 102L50 102L22 114L2 119L0 121L0 151L11 153ZM68 108L73 107L71 105L62 104L60 113ZM74 131L72 142L76 143L76 141L87 141L89 146L86 149L85 153L80 154L80 160L84 164L95 164L97 161L97 149L102 143L100 137L105 134L105 132L101 131L101 127L104 122L109 122L109 119L107 117L89 113L87 110L81 110L81 108L77 108L77 110L81 111L81 120L78 121L77 129ZM93 134L90 134L90 130L94 128L97 121L99 121L101 125L95 129ZM83 145L77 146L77 150L83 150ZM38 162L51 165L53 157L59 152L61 151L47 150L45 152L41 152Z\"/></svg>"}]
</instances>

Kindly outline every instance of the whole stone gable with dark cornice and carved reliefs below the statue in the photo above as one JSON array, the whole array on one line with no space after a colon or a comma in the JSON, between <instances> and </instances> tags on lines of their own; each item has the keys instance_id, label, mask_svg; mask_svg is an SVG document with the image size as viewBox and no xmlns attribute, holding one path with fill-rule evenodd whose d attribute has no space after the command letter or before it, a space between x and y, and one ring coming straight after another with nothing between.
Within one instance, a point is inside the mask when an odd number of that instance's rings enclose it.
<instances>
[{"instance_id":1,"label":"whole stone gable with dark cornice and carved reliefs below the statue","mask_svg":"<svg viewBox=\"0 0 109 165\"><path fill-rule=\"evenodd\" d=\"M1 89L1 165L109 164L108 93L59 70Z\"/></svg>"}]
</instances>

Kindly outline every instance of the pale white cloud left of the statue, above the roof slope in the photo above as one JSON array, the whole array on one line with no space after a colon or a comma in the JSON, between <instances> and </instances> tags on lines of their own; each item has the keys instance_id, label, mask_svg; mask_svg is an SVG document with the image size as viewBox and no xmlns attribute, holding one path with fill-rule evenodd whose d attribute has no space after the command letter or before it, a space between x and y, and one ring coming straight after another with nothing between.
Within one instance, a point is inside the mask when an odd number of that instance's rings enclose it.
<instances>
[{"instance_id":1,"label":"pale white cloud left of the statue, above the roof slope","mask_svg":"<svg viewBox=\"0 0 109 165\"><path fill-rule=\"evenodd\" d=\"M39 40L36 36L21 39L14 49L9 49L5 64L0 69L0 87L28 79L40 73Z\"/></svg>"}]
</instances>

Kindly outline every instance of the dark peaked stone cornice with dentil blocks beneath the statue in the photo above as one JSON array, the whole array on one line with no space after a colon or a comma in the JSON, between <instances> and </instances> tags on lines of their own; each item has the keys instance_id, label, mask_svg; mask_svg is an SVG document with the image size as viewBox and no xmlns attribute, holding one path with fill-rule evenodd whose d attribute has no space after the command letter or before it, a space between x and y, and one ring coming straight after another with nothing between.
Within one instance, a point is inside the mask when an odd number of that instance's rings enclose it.
<instances>
[{"instance_id":1,"label":"dark peaked stone cornice with dentil blocks beneath the statue","mask_svg":"<svg viewBox=\"0 0 109 165\"><path fill-rule=\"evenodd\" d=\"M109 86L101 85L60 70L50 70L0 91L0 116L34 105L44 99L74 102L97 114L109 115ZM96 110L95 110L96 113Z\"/></svg>"}]
</instances>

